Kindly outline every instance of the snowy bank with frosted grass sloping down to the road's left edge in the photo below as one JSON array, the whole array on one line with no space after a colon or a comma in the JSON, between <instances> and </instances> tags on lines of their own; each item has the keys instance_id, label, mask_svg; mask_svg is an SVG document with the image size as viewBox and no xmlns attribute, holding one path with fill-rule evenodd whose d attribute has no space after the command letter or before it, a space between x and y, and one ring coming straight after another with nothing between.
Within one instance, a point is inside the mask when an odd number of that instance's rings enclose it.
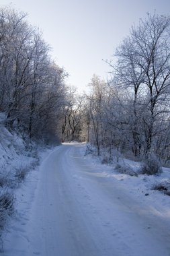
<instances>
[{"instance_id":1,"label":"snowy bank with frosted grass sloping down to the road's left edge","mask_svg":"<svg viewBox=\"0 0 170 256\"><path fill-rule=\"evenodd\" d=\"M38 165L37 148L26 143L15 132L9 132L3 125L5 115L0 113L0 238L9 228L11 217L19 218L17 201L21 198L20 187L30 171ZM0 240L3 251L3 240Z\"/></svg>"}]
</instances>

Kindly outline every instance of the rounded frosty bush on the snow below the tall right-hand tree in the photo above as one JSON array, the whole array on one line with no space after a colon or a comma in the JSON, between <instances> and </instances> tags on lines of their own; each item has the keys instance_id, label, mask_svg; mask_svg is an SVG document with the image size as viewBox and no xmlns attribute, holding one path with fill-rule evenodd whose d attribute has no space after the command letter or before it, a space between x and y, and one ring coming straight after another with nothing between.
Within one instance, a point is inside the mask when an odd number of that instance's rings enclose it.
<instances>
[{"instance_id":1,"label":"rounded frosty bush on the snow below the tall right-hand tree","mask_svg":"<svg viewBox=\"0 0 170 256\"><path fill-rule=\"evenodd\" d=\"M142 174L155 175L162 172L161 162L155 155L148 156L142 163Z\"/></svg>"}]
</instances>

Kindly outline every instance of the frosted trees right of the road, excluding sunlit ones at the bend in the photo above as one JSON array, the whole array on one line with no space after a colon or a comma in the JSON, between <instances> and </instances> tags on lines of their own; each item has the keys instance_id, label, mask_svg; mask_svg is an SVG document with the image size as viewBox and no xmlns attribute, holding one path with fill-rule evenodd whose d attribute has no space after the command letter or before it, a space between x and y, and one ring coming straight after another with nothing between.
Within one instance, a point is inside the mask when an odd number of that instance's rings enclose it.
<instances>
[{"instance_id":1,"label":"frosted trees right of the road, excluding sunlit ones at the bend","mask_svg":"<svg viewBox=\"0 0 170 256\"><path fill-rule=\"evenodd\" d=\"M89 104L91 141L98 154L99 143L104 147L111 143L134 156L169 158L169 17L148 13L132 26L114 57L116 62L109 63L112 79L105 83L102 97L102 86L93 88L93 105Z\"/></svg>"}]
</instances>

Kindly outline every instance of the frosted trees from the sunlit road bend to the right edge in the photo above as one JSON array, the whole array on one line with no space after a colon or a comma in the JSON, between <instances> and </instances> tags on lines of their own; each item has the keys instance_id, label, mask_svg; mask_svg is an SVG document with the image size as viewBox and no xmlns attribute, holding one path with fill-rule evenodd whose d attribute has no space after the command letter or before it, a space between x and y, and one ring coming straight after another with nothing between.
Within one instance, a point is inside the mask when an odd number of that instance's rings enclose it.
<instances>
[{"instance_id":1,"label":"frosted trees from the sunlit road bend to the right edge","mask_svg":"<svg viewBox=\"0 0 170 256\"><path fill-rule=\"evenodd\" d=\"M93 75L83 97L70 90L62 141L87 141L87 152L93 148L102 162L120 156L144 162L148 174L159 173L159 164L170 166L169 38L168 16L147 13L132 26L107 61L108 81Z\"/></svg>"}]
</instances>

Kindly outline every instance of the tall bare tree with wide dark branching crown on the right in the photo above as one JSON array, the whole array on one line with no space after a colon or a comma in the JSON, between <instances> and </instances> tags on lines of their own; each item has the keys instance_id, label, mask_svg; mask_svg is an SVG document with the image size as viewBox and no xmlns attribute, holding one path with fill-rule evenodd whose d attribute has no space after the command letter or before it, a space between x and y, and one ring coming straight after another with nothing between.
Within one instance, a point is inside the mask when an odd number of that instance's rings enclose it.
<instances>
[{"instance_id":1,"label":"tall bare tree with wide dark branching crown on the right","mask_svg":"<svg viewBox=\"0 0 170 256\"><path fill-rule=\"evenodd\" d=\"M140 153L141 124L144 153L148 154L157 137L159 119L169 111L169 25L169 17L148 13L145 20L132 27L130 36L116 51L114 83L128 90L133 102L130 122L134 155Z\"/></svg>"}]
</instances>

